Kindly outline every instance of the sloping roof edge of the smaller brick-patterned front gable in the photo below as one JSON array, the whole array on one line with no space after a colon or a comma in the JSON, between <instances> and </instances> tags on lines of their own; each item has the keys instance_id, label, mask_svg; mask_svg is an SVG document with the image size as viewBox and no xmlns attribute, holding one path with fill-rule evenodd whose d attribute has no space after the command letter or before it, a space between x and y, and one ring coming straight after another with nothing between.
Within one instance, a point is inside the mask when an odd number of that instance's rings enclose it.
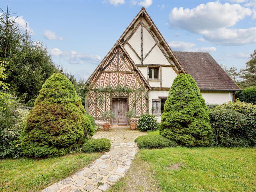
<instances>
[{"instance_id":1,"label":"sloping roof edge of the smaller brick-patterned front gable","mask_svg":"<svg viewBox=\"0 0 256 192\"><path fill-rule=\"evenodd\" d=\"M134 63L134 61L132 60L132 58L130 57L130 55L127 53L127 51L125 50L125 48L122 46L122 44L117 41L114 46L109 50L109 52L107 53L107 55L102 59L102 61L100 62L100 64L98 65L98 67L93 71L93 73L91 74L91 76L87 79L87 81L85 82L84 86L86 86L90 80L92 79L92 77L96 74L96 72L98 70L102 70L100 69L100 67L102 66L102 64L105 62L105 60L109 57L109 55L111 54L111 52L117 47L120 46L120 48L123 50L123 52L126 54L127 58L130 60L130 62L132 63L134 69L138 72L138 74L141 76L142 80L146 83L146 85L148 86L148 88L151 90L152 87L149 85L149 83L147 82L147 80L145 79L145 77L142 75L141 71L139 70L139 68L137 67L137 65Z\"/></svg>"}]
</instances>

